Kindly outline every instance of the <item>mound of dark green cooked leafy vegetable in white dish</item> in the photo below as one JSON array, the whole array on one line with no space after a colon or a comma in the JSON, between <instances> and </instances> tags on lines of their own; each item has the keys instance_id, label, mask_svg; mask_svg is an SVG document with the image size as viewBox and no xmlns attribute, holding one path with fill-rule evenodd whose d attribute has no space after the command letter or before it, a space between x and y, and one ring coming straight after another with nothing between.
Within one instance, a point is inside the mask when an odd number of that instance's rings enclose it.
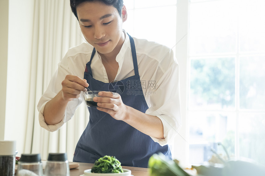
<instances>
[{"instance_id":1,"label":"mound of dark green cooked leafy vegetable in white dish","mask_svg":"<svg viewBox=\"0 0 265 176\"><path fill-rule=\"evenodd\" d=\"M92 173L122 173L122 167L119 160L115 156L105 155L95 161L91 169Z\"/></svg>"}]
</instances>

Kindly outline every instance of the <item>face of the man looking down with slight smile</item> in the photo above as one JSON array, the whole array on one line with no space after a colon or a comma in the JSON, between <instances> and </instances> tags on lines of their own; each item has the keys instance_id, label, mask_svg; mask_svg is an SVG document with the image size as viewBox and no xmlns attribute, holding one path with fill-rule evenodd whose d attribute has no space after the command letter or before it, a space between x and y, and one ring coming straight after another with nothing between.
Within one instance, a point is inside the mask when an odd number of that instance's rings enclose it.
<instances>
[{"instance_id":1,"label":"face of the man looking down with slight smile","mask_svg":"<svg viewBox=\"0 0 265 176\"><path fill-rule=\"evenodd\" d=\"M120 17L115 7L99 1L83 2L76 11L86 41L99 53L108 54L122 46L122 23L126 19Z\"/></svg>"}]
</instances>

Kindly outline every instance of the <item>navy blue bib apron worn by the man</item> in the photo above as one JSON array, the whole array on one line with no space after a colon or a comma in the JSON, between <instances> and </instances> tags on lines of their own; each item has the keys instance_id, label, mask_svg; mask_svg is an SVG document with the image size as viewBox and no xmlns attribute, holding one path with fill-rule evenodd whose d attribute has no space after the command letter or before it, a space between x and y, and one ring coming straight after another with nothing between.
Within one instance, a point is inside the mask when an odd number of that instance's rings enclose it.
<instances>
[{"instance_id":1,"label":"navy blue bib apron worn by the man","mask_svg":"<svg viewBox=\"0 0 265 176\"><path fill-rule=\"evenodd\" d=\"M145 113L148 106L141 88L135 45L132 37L129 36L129 38L134 76L114 83L95 80L91 71L91 61L96 52L94 48L90 61L86 65L84 79L87 80L90 90L117 92L124 104ZM137 92L132 93L130 83L140 83L137 90L134 89ZM149 158L154 153L159 152L172 159L168 145L161 147L150 136L138 131L124 121L112 118L108 113L90 107L88 107L88 110L90 113L89 122L75 148L74 162L94 163L100 157L110 155L115 156L122 166L147 167Z\"/></svg>"}]
</instances>

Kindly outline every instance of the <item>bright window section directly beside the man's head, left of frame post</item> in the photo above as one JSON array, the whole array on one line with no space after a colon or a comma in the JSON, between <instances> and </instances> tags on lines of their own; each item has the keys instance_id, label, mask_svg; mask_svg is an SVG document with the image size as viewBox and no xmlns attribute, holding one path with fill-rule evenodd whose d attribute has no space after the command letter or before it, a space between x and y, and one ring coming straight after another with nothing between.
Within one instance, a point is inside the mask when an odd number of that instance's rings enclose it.
<instances>
[{"instance_id":1,"label":"bright window section directly beside the man's head, left of frame post","mask_svg":"<svg viewBox=\"0 0 265 176\"><path fill-rule=\"evenodd\" d=\"M128 18L123 28L134 37L173 48L176 44L176 3L177 0L124 0Z\"/></svg>"}]
</instances>

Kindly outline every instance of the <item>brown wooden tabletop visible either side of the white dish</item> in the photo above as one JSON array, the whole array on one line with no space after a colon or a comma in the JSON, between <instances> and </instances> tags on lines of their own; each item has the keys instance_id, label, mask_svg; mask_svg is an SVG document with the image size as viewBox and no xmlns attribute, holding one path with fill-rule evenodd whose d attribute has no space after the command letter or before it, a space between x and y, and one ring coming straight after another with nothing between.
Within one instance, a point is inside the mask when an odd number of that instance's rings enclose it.
<instances>
[{"instance_id":1,"label":"brown wooden tabletop visible either side of the white dish","mask_svg":"<svg viewBox=\"0 0 265 176\"><path fill-rule=\"evenodd\" d=\"M79 167L75 169L70 169L71 176L80 176L84 174L84 170L91 169L94 164L78 162ZM129 169L132 171L133 176L149 176L149 169L141 167L128 167L122 166L123 169Z\"/></svg>"}]
</instances>

